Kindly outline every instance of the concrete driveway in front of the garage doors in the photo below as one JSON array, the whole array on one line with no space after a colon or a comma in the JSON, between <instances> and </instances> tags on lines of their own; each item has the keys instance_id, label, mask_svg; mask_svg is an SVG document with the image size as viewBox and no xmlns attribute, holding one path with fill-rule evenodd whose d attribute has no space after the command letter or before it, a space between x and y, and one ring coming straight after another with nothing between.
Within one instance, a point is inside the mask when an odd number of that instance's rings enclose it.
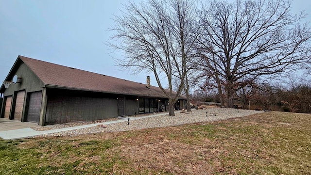
<instances>
[{"instance_id":1,"label":"concrete driveway in front of the garage doors","mask_svg":"<svg viewBox=\"0 0 311 175\"><path fill-rule=\"evenodd\" d=\"M38 126L37 123L20 122L19 120L9 120L7 118L0 118L0 131L37 127L37 126Z\"/></svg>"}]
</instances>

